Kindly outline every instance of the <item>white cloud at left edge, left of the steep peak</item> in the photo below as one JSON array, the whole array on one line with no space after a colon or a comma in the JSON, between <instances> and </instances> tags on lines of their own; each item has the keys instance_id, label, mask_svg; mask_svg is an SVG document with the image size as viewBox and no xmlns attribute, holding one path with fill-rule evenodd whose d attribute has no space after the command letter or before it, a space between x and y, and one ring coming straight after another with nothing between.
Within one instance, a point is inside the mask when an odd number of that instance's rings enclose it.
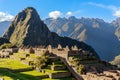
<instances>
[{"instance_id":1,"label":"white cloud at left edge, left of the steep peak","mask_svg":"<svg viewBox=\"0 0 120 80\"><path fill-rule=\"evenodd\" d=\"M12 16L8 13L0 12L0 22L11 21L11 20L13 20L13 18L14 18L14 16Z\"/></svg>"}]
</instances>

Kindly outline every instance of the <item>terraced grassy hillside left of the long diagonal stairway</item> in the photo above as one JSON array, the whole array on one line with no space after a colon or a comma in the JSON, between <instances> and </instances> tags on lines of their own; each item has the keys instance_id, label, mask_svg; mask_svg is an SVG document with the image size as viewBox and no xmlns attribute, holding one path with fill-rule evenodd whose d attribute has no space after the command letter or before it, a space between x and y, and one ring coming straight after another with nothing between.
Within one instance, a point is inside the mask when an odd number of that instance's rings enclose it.
<instances>
[{"instance_id":1,"label":"terraced grassy hillside left of the long diagonal stairway","mask_svg":"<svg viewBox=\"0 0 120 80\"><path fill-rule=\"evenodd\" d=\"M9 58L0 58L0 78L5 80L74 80L64 63L57 57L41 70L35 70L34 53L18 52Z\"/></svg>"}]
</instances>

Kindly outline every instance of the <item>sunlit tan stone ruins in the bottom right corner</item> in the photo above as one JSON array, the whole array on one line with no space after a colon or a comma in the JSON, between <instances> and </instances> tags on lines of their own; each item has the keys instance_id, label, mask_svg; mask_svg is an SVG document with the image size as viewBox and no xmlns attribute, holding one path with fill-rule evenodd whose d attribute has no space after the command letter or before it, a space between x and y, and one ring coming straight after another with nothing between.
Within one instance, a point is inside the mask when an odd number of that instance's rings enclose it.
<instances>
[{"instance_id":1,"label":"sunlit tan stone ruins in the bottom right corner","mask_svg":"<svg viewBox=\"0 0 120 80\"><path fill-rule=\"evenodd\" d=\"M119 70L108 70L103 73L88 72L86 75L83 75L85 80L120 80L120 71Z\"/></svg>"}]
</instances>

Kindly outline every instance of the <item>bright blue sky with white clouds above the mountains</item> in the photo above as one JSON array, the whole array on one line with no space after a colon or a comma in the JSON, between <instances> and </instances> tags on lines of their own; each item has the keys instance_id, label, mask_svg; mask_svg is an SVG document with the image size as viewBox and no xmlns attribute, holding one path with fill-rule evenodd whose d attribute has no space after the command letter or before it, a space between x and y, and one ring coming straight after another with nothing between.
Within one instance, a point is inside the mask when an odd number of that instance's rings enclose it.
<instances>
[{"instance_id":1,"label":"bright blue sky with white clouds above the mountains","mask_svg":"<svg viewBox=\"0 0 120 80\"><path fill-rule=\"evenodd\" d=\"M110 22L120 17L120 0L0 0L0 21L11 20L28 6L42 19L76 16Z\"/></svg>"}]
</instances>

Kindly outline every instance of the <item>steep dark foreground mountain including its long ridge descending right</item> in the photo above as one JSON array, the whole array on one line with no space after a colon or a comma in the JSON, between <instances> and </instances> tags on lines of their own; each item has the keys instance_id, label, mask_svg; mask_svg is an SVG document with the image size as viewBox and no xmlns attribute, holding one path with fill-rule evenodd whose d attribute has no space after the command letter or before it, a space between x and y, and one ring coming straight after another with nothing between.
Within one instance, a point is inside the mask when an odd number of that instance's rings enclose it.
<instances>
[{"instance_id":1,"label":"steep dark foreground mountain including its long ridge descending right","mask_svg":"<svg viewBox=\"0 0 120 80\"><path fill-rule=\"evenodd\" d=\"M89 45L68 37L60 37L56 33L51 32L40 19L37 11L32 7L25 8L18 13L3 37L18 47L46 47L49 44L53 47L57 47L58 44L61 44L63 47L76 45L79 48L93 52L97 56L94 49Z\"/></svg>"}]
</instances>

